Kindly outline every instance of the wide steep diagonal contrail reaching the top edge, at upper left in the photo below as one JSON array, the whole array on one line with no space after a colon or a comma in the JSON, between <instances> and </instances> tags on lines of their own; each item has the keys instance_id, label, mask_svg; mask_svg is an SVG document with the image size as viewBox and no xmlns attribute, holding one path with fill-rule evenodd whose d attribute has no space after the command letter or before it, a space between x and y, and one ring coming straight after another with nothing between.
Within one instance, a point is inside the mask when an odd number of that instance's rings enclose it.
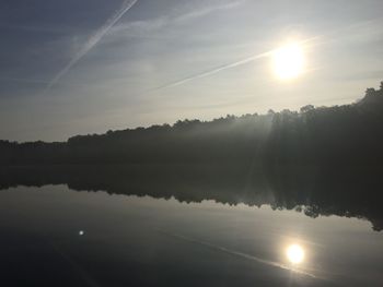
<instances>
[{"instance_id":1,"label":"wide steep diagonal contrail reaching the top edge, at upper left","mask_svg":"<svg viewBox=\"0 0 383 287\"><path fill-rule=\"evenodd\" d=\"M126 12L128 12L138 0L125 0L121 4L121 8L113 15L111 16L105 24L98 28L85 43L85 45L81 48L81 50L74 55L74 57L67 63L66 67L48 83L48 85L45 88L45 93L48 92L60 79L68 73L68 71L78 62L81 60L82 57L84 57L105 35L108 33L108 31L117 23L118 20L124 16Z\"/></svg>"}]
</instances>

